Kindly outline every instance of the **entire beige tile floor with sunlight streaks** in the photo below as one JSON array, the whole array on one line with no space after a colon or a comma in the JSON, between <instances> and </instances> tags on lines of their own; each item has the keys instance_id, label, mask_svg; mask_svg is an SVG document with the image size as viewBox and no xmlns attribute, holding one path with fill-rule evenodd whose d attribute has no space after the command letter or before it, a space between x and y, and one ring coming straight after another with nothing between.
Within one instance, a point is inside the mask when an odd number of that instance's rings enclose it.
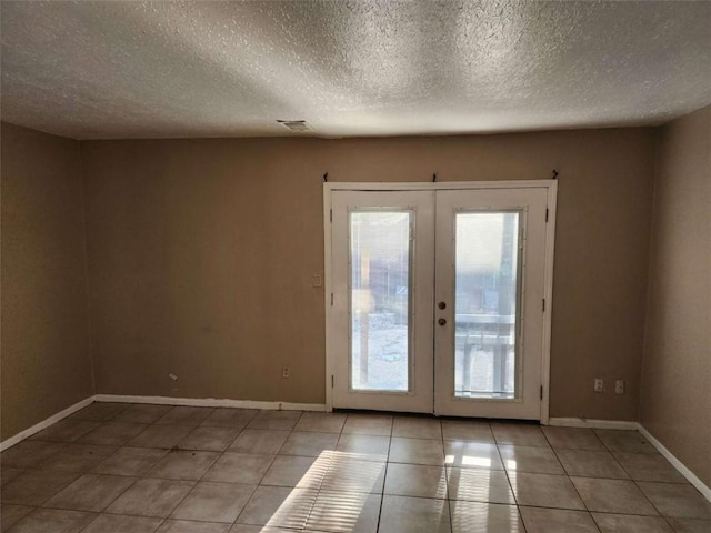
<instances>
[{"instance_id":1,"label":"entire beige tile floor with sunlight streaks","mask_svg":"<svg viewBox=\"0 0 711 533\"><path fill-rule=\"evenodd\" d=\"M0 462L9 533L711 532L633 431L93 403Z\"/></svg>"}]
</instances>

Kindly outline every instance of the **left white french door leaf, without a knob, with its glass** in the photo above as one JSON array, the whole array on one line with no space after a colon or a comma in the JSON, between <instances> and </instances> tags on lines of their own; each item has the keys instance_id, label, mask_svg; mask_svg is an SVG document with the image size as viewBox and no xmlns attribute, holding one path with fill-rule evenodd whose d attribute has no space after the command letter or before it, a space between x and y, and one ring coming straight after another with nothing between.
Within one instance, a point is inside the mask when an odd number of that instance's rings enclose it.
<instances>
[{"instance_id":1,"label":"left white french door leaf, without a knob, with its glass","mask_svg":"<svg viewBox=\"0 0 711 533\"><path fill-rule=\"evenodd\" d=\"M434 192L331 194L332 404L431 413Z\"/></svg>"}]
</instances>

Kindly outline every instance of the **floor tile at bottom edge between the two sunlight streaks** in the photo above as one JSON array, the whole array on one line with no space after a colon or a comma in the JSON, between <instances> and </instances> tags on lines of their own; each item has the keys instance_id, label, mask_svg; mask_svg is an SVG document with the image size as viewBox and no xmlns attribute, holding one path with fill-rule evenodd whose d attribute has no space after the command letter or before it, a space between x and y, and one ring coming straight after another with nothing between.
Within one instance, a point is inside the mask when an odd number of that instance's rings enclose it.
<instances>
[{"instance_id":1,"label":"floor tile at bottom edge between the two sunlight streaks","mask_svg":"<svg viewBox=\"0 0 711 533\"><path fill-rule=\"evenodd\" d=\"M450 533L449 503L447 500L384 495L380 512L380 531Z\"/></svg>"}]
</instances>

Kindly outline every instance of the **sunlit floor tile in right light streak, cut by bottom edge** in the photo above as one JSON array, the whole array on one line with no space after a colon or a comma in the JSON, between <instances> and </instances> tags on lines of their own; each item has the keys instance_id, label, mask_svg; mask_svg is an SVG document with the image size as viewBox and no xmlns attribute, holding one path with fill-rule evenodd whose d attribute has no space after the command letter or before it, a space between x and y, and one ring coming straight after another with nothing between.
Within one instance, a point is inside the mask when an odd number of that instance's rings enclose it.
<instances>
[{"instance_id":1,"label":"sunlit floor tile in right light streak, cut by bottom edge","mask_svg":"<svg viewBox=\"0 0 711 533\"><path fill-rule=\"evenodd\" d=\"M452 533L523 533L523 522L514 505L451 502Z\"/></svg>"}]
</instances>

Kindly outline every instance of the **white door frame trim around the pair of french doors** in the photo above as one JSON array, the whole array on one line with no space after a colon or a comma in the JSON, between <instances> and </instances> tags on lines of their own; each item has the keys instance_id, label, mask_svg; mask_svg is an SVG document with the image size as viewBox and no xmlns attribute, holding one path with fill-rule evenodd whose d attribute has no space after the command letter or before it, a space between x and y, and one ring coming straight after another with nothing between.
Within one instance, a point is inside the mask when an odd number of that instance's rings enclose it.
<instances>
[{"instance_id":1,"label":"white door frame trim around the pair of french doors","mask_svg":"<svg viewBox=\"0 0 711 533\"><path fill-rule=\"evenodd\" d=\"M458 181L439 183L358 183L329 182L323 184L323 251L324 251L324 305L326 305L326 409L333 410L333 372L334 358L331 339L332 320L332 243L331 243L331 192L332 191L437 191L437 190L475 190L475 189L545 189L548 193L548 224L545 225L545 269L543 298L543 340L541 361L541 423L549 422L550 365L551 365L551 316L553 310L553 257L555 245L555 207L558 200L558 181L555 180L515 180L515 181Z\"/></svg>"}]
</instances>

